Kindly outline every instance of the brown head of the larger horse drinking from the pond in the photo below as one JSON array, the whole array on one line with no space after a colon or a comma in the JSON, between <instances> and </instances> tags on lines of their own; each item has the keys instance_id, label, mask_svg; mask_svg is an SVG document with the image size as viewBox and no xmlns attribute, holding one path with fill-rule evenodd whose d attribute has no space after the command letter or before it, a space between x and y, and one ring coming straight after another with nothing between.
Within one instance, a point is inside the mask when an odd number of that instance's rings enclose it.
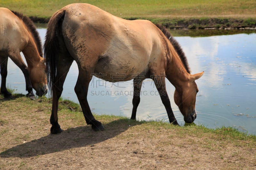
<instances>
[{"instance_id":1,"label":"brown head of the larger horse drinking from the pond","mask_svg":"<svg viewBox=\"0 0 256 170\"><path fill-rule=\"evenodd\" d=\"M190 75L189 81L175 89L174 101L184 116L186 123L192 123L196 119L196 93L198 88L195 80L200 78L204 72Z\"/></svg>"}]
</instances>

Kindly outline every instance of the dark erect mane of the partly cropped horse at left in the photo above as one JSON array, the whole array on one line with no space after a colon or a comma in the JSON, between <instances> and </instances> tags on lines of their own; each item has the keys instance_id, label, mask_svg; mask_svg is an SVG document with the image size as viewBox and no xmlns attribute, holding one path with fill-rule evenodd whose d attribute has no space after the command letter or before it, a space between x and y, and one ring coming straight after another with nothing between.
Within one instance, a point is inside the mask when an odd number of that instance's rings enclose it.
<instances>
[{"instance_id":1,"label":"dark erect mane of the partly cropped horse at left","mask_svg":"<svg viewBox=\"0 0 256 170\"><path fill-rule=\"evenodd\" d=\"M34 36L34 40L36 42L36 48L41 57L43 57L43 52L42 52L42 42L39 36L39 33L36 31L36 26L34 25L33 21L29 19L28 17L24 16L22 13L12 11L17 17L19 17L23 23L28 27L32 35Z\"/></svg>"}]
</instances>

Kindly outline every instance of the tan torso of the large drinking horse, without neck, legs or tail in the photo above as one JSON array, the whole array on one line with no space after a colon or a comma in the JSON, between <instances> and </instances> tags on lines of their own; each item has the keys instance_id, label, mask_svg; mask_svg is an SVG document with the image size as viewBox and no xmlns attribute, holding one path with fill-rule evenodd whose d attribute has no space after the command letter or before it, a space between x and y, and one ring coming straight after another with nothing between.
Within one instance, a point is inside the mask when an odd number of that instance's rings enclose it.
<instances>
[{"instance_id":1,"label":"tan torso of the large drinking horse, without neck, legs or tail","mask_svg":"<svg viewBox=\"0 0 256 170\"><path fill-rule=\"evenodd\" d=\"M148 20L125 20L90 4L70 4L62 10L68 51L78 62L92 53L98 61L95 72L104 73L107 80L112 81L114 73L125 74L127 80L131 73L146 73L161 51L159 30Z\"/></svg>"}]
</instances>

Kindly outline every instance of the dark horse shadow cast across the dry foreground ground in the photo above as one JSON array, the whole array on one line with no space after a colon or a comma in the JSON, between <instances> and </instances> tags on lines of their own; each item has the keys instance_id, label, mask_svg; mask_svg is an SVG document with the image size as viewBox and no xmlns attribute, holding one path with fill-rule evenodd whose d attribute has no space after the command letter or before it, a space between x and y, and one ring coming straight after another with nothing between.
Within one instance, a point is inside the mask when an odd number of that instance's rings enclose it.
<instances>
[{"instance_id":1,"label":"dark horse shadow cast across the dry foreground ground","mask_svg":"<svg viewBox=\"0 0 256 170\"><path fill-rule=\"evenodd\" d=\"M94 131L91 126L75 127L64 130L60 134L49 134L30 142L14 146L0 153L0 158L29 158L54 152L94 146L97 143L116 137L131 126L143 124L127 119L120 119L103 124L106 130Z\"/></svg>"}]
</instances>

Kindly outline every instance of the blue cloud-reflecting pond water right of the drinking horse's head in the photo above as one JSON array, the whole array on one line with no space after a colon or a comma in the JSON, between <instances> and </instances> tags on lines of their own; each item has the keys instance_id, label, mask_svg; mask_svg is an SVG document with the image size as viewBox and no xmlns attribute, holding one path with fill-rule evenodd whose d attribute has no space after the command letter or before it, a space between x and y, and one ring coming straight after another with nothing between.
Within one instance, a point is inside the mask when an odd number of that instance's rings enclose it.
<instances>
[{"instance_id":1,"label":"blue cloud-reflecting pond water right of the drinking horse's head","mask_svg":"<svg viewBox=\"0 0 256 170\"><path fill-rule=\"evenodd\" d=\"M255 134L256 34L177 39L192 70L205 71L203 80L197 81L200 92L195 123L204 122L211 128L240 127ZM188 42L191 45L184 46Z\"/></svg>"}]
</instances>

